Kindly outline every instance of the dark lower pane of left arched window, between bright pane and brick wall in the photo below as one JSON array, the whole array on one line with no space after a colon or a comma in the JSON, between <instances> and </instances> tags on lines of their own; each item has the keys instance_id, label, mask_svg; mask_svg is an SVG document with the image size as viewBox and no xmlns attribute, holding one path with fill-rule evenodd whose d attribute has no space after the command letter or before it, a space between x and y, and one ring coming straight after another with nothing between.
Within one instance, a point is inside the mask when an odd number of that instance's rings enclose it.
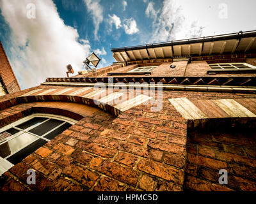
<instances>
[{"instance_id":1,"label":"dark lower pane of left arched window, between bright pane and brick wall","mask_svg":"<svg viewBox=\"0 0 256 204\"><path fill-rule=\"evenodd\" d=\"M35 142L31 143L24 149L13 154L13 156L10 156L7 160L10 161L10 163L12 164L20 163L22 159L29 156L29 154L32 154L33 152L35 152L36 149L42 147L45 143L47 143L45 140L42 140L42 139L36 140Z\"/></svg>"}]
</instances>

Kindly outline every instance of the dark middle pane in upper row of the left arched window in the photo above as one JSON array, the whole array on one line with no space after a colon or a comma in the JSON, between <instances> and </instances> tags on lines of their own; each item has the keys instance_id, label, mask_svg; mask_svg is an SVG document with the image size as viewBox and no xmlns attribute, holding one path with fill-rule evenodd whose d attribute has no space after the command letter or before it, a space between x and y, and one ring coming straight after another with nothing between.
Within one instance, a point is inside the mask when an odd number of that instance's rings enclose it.
<instances>
[{"instance_id":1,"label":"dark middle pane in upper row of the left arched window","mask_svg":"<svg viewBox=\"0 0 256 204\"><path fill-rule=\"evenodd\" d=\"M45 133L49 132L51 129L56 128L57 126L60 126L61 123L63 123L62 120L51 119L39 126L36 126L36 128L29 130L29 132L42 136Z\"/></svg>"}]
</instances>

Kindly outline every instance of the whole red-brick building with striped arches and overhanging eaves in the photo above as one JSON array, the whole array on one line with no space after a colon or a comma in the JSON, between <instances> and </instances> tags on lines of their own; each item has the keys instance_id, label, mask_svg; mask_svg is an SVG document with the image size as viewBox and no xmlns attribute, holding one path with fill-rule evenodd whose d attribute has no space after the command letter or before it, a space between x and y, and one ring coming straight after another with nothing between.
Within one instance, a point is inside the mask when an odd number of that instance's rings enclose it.
<instances>
[{"instance_id":1,"label":"whole red-brick building with striped arches and overhanging eaves","mask_svg":"<svg viewBox=\"0 0 256 204\"><path fill-rule=\"evenodd\" d=\"M44 142L2 139L1 191L255 191L255 38L115 48L112 66L2 96L1 133Z\"/></svg>"}]
</instances>

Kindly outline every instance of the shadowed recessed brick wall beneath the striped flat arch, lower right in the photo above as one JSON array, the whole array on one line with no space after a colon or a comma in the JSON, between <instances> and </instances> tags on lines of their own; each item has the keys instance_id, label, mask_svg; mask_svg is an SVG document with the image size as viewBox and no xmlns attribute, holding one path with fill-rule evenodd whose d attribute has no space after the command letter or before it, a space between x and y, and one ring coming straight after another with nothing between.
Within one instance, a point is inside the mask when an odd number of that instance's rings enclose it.
<instances>
[{"instance_id":1,"label":"shadowed recessed brick wall beneath the striped flat arch, lower right","mask_svg":"<svg viewBox=\"0 0 256 204\"><path fill-rule=\"evenodd\" d=\"M256 134L253 129L207 129L188 136L186 188L195 191L256 191ZM228 171L220 185L219 170Z\"/></svg>"}]
</instances>

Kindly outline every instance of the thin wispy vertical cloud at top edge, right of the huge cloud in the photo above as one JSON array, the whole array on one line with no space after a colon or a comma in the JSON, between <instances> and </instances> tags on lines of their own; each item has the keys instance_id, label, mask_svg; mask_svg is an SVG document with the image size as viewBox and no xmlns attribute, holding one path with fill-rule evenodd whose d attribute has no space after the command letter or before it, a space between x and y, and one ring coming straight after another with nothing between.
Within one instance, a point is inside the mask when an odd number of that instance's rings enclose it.
<instances>
[{"instance_id":1,"label":"thin wispy vertical cloud at top edge, right of the huge cloud","mask_svg":"<svg viewBox=\"0 0 256 204\"><path fill-rule=\"evenodd\" d=\"M99 40L97 34L99 31L100 23L103 21L103 8L100 6L100 0L84 0L87 10L92 14L93 24L95 26L94 37Z\"/></svg>"}]
</instances>

